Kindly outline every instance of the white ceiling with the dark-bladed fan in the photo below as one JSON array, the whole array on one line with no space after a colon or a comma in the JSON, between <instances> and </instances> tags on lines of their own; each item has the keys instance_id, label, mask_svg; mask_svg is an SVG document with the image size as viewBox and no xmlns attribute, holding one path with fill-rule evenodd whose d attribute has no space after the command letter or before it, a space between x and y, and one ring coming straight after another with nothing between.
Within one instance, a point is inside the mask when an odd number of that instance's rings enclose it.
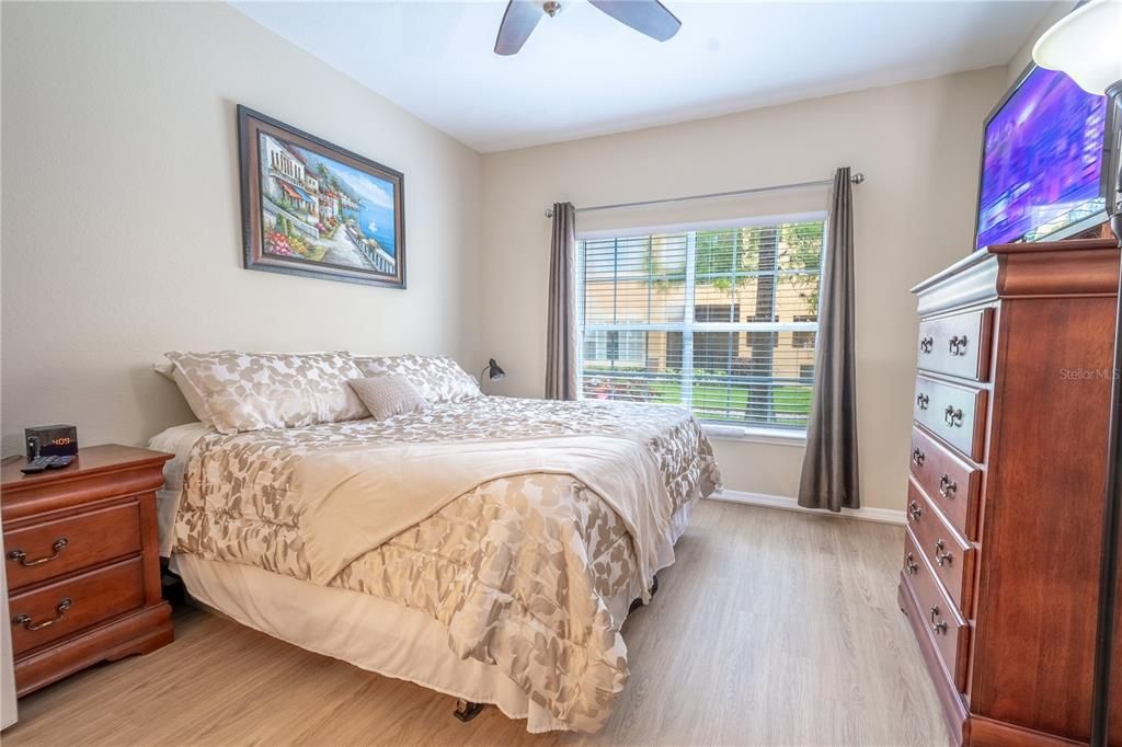
<instances>
[{"instance_id":1,"label":"white ceiling with the dark-bladed fan","mask_svg":"<svg viewBox=\"0 0 1122 747\"><path fill-rule=\"evenodd\" d=\"M1050 6L663 2L666 43L562 0L513 57L502 0L231 4L482 153L1004 65Z\"/></svg>"}]
</instances>

